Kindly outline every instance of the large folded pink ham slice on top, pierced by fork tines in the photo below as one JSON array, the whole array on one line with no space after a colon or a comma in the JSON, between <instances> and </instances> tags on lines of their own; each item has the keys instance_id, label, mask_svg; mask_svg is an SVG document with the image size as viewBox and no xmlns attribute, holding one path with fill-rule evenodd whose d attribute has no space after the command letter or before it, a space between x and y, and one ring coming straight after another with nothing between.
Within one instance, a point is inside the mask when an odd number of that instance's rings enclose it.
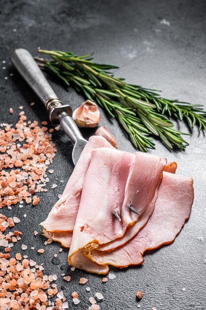
<instances>
[{"instance_id":1,"label":"large folded pink ham slice on top, pierced by fork tines","mask_svg":"<svg viewBox=\"0 0 206 310\"><path fill-rule=\"evenodd\" d=\"M107 148L93 152L69 251L71 265L77 266L80 250L122 240L134 223L133 236L137 234L154 210L165 164L166 159L141 152L133 155ZM130 205L141 215L131 212Z\"/></svg>"}]
</instances>

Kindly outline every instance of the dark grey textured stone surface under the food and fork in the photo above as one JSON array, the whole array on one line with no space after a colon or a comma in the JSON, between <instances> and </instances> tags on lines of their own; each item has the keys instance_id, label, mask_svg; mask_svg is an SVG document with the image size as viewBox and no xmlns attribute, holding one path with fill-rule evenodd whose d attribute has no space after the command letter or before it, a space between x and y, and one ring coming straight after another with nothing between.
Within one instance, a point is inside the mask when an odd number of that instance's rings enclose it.
<instances>
[{"instance_id":1,"label":"dark grey textured stone surface under the food and fork","mask_svg":"<svg viewBox=\"0 0 206 310\"><path fill-rule=\"evenodd\" d=\"M10 64L9 56L19 47L34 55L38 47L78 54L95 51L96 61L119 65L117 75L129 82L162 89L168 97L205 104L205 0L1 0L0 4L0 122L15 123L20 104L28 118L48 120L38 98ZM163 19L169 24L162 23ZM63 102L73 107L82 103L74 91L67 92L53 81L51 85ZM31 102L36 103L32 111ZM14 108L13 115L9 114L10 106ZM119 149L134 151L118 124L110 122L104 113L101 124L115 134ZM182 124L181 129L187 130ZM92 132L85 130L83 134L88 137ZM159 142L151 153L176 160L178 173L194 178L195 200L189 221L172 245L146 255L140 267L112 268L116 278L103 284L101 276L80 270L71 272L66 250L58 256L60 264L53 264L58 244L46 246L44 254L37 255L37 249L44 248L45 239L40 234L35 237L33 232L41 232L39 223L62 193L73 169L69 138L61 130L54 133L58 152L48 187L52 183L58 183L58 187L40 195L37 207L14 206L2 211L21 218L16 227L23 231L22 243L28 245L24 253L43 262L48 273L58 275L56 283L68 298L69 309L88 309L88 298L95 292L104 295L102 310L136 310L139 306L144 310L154 306L157 310L206 309L206 141L197 129L186 140L190 145L185 153L170 153ZM13 253L21 251L20 246L21 242ZM30 249L32 246L35 250ZM63 271L72 276L70 283L62 280ZM85 291L86 286L78 284L82 276L88 278L90 293ZM73 290L79 292L78 306L71 302ZM141 302L136 301L137 290L145 293Z\"/></svg>"}]
</instances>

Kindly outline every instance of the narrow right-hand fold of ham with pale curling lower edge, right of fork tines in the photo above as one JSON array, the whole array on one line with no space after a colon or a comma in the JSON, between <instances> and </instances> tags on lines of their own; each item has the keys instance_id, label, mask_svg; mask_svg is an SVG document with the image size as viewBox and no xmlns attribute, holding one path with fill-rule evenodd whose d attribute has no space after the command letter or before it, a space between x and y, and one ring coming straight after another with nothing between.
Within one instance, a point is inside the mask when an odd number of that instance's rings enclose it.
<instances>
[{"instance_id":1,"label":"narrow right-hand fold of ham with pale curling lower edge, right of fork tines","mask_svg":"<svg viewBox=\"0 0 206 310\"><path fill-rule=\"evenodd\" d=\"M129 240L133 239L138 231L147 223L155 207L165 165L165 158L141 152L136 154L136 160L131 170L131 175L128 178L127 192L129 195L127 197L125 194L125 198L127 199L127 205L135 205L141 216L139 216L139 220L134 225L128 227L123 238L100 245L98 247L99 251L108 252L122 247ZM131 201L129 201L129 197L132 197Z\"/></svg>"}]
</instances>

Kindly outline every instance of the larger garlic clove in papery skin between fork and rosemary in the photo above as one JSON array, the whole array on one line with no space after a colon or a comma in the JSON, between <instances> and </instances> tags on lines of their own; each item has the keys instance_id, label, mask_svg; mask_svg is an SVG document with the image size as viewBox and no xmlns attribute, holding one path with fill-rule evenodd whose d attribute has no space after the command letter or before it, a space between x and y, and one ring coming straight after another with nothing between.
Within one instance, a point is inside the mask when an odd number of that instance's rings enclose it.
<instances>
[{"instance_id":1,"label":"larger garlic clove in papery skin between fork and rosemary","mask_svg":"<svg viewBox=\"0 0 206 310\"><path fill-rule=\"evenodd\" d=\"M96 103L87 100L77 107L72 115L78 127L96 127L100 120L101 114Z\"/></svg>"}]
</instances>

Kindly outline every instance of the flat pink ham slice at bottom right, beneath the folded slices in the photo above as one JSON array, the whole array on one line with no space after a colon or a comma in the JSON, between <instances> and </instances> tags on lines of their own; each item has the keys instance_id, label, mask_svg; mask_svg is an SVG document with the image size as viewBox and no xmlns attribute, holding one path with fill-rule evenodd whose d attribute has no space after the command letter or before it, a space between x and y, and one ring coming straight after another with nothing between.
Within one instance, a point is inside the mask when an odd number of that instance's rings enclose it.
<instances>
[{"instance_id":1,"label":"flat pink ham slice at bottom right, beneath the folded slices","mask_svg":"<svg viewBox=\"0 0 206 310\"><path fill-rule=\"evenodd\" d=\"M138 235L120 249L109 253L91 250L87 251L87 257L99 265L141 264L146 251L174 241L190 216L193 198L191 178L164 172L155 210Z\"/></svg>"}]
</instances>

